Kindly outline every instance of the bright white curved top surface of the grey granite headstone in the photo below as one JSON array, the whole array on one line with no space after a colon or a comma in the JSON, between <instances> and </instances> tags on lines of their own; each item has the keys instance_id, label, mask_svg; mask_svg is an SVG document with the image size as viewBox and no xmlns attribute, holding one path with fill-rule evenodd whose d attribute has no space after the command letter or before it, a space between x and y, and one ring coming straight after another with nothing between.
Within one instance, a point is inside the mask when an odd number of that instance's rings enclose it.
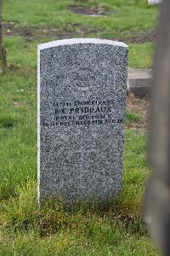
<instances>
[{"instance_id":1,"label":"bright white curved top surface of the grey granite headstone","mask_svg":"<svg viewBox=\"0 0 170 256\"><path fill-rule=\"evenodd\" d=\"M39 44L37 46L38 50L53 48L61 45L71 45L71 44L108 44L113 46L121 46L127 48L127 44L118 41L98 39L98 38L73 38L73 39L64 39L57 40L53 42L48 42L46 44Z\"/></svg>"}]
</instances>

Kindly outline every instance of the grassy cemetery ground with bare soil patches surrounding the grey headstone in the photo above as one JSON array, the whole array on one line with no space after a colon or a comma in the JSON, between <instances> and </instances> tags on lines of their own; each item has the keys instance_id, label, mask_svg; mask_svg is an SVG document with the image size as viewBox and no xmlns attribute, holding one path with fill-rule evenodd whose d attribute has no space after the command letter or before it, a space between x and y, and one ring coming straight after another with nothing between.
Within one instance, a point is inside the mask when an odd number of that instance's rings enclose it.
<instances>
[{"instance_id":1,"label":"grassy cemetery ground with bare soil patches surrounding the grey headstone","mask_svg":"<svg viewBox=\"0 0 170 256\"><path fill-rule=\"evenodd\" d=\"M72 211L52 201L40 209L37 202L37 44L118 39L129 45L129 67L151 68L157 8L137 0L8 0L3 15L8 70L0 75L0 254L160 255L142 219L150 174L148 99L127 98L123 184L115 200Z\"/></svg>"}]
</instances>

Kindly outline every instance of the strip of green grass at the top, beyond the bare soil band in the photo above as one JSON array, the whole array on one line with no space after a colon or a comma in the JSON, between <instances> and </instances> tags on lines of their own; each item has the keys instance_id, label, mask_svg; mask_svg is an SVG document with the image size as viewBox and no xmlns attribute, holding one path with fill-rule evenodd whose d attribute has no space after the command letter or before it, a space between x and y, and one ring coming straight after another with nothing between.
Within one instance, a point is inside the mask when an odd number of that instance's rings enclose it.
<instances>
[{"instance_id":1,"label":"strip of green grass at the top, beyond the bare soil band","mask_svg":"<svg viewBox=\"0 0 170 256\"><path fill-rule=\"evenodd\" d=\"M68 9L71 4L106 6L108 17L75 15ZM13 8L11 8L13 6ZM68 0L6 0L3 6L4 20L11 20L20 26L65 26L72 23L86 24L116 31L141 31L156 25L157 8L148 6L145 0L117 1L68 1Z\"/></svg>"}]
</instances>

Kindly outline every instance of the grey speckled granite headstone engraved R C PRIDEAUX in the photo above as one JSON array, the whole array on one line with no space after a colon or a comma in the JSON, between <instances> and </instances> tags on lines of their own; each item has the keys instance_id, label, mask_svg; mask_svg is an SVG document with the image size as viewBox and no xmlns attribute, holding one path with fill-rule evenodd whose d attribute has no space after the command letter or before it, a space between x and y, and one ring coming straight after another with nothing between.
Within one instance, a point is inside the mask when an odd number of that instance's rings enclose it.
<instances>
[{"instance_id":1,"label":"grey speckled granite headstone engraved R C PRIDEAUX","mask_svg":"<svg viewBox=\"0 0 170 256\"><path fill-rule=\"evenodd\" d=\"M127 45L38 46L38 196L106 201L122 187Z\"/></svg>"}]
</instances>

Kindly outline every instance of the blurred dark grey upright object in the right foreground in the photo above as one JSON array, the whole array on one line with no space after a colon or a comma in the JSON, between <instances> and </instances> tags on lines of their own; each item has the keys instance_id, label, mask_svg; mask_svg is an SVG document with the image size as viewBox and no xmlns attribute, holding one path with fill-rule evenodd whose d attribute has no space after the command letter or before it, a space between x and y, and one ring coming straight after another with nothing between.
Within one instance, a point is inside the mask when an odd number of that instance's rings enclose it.
<instances>
[{"instance_id":1,"label":"blurred dark grey upright object in the right foreground","mask_svg":"<svg viewBox=\"0 0 170 256\"><path fill-rule=\"evenodd\" d=\"M163 0L151 88L149 160L144 200L150 235L170 255L170 1Z\"/></svg>"}]
</instances>

